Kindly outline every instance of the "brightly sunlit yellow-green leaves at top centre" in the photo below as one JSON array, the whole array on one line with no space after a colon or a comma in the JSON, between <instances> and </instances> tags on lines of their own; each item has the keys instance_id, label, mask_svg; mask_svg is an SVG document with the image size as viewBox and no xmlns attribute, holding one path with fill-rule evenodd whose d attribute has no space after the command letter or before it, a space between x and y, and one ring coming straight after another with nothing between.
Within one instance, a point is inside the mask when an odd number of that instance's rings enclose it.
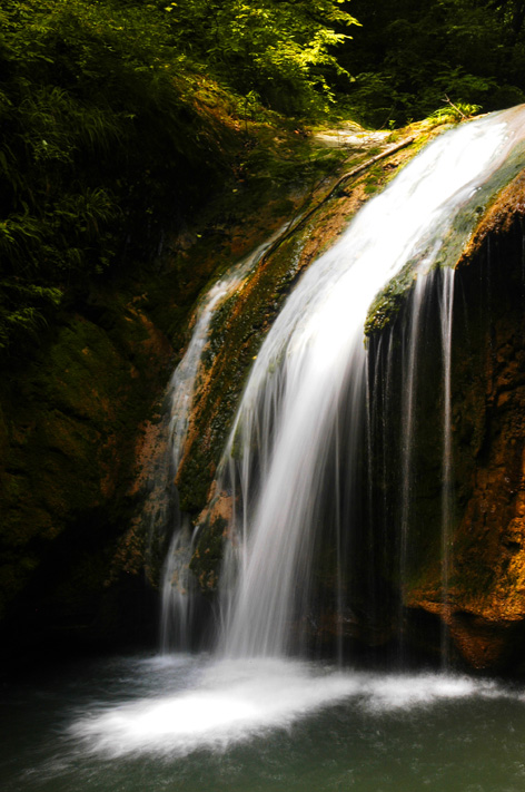
<instances>
[{"instance_id":1,"label":"brightly sunlit yellow-green leaves at top centre","mask_svg":"<svg viewBox=\"0 0 525 792\"><path fill-rule=\"evenodd\" d=\"M329 78L346 75L334 47L356 20L344 0L178 0L160 7L177 45L244 96L266 106L315 113L333 98ZM337 28L337 29L336 29Z\"/></svg>"}]
</instances>

